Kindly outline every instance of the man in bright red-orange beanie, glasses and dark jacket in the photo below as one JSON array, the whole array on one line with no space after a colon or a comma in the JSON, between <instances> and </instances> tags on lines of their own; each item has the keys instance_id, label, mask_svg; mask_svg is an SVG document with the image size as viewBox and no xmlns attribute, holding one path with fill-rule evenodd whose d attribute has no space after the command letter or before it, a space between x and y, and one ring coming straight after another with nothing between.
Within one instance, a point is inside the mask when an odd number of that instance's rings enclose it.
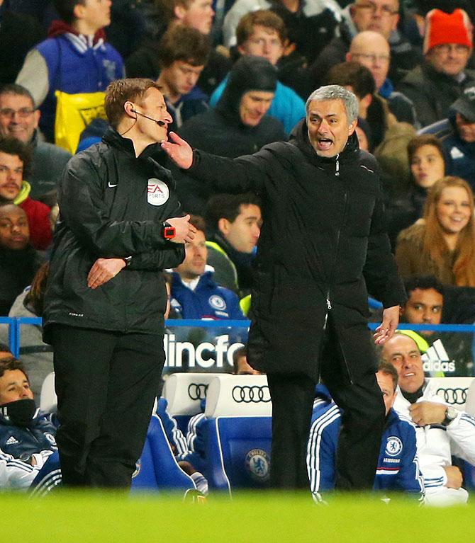
<instances>
[{"instance_id":1,"label":"man in bright red-orange beanie, glasses and dark jacket","mask_svg":"<svg viewBox=\"0 0 475 543\"><path fill-rule=\"evenodd\" d=\"M422 126L446 118L449 106L465 88L475 85L475 72L466 69L472 50L472 25L466 12L432 9L425 22L425 62L398 85L398 91L413 101Z\"/></svg>"}]
</instances>

